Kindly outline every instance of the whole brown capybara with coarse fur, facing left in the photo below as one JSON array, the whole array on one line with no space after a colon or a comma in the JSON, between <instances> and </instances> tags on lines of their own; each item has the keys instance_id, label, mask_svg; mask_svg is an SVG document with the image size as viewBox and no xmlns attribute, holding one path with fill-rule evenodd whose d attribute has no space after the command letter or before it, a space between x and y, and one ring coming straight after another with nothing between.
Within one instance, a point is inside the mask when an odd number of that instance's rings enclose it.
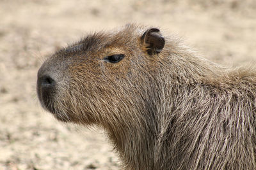
<instances>
[{"instance_id":1,"label":"whole brown capybara with coarse fur, facing left","mask_svg":"<svg viewBox=\"0 0 256 170\"><path fill-rule=\"evenodd\" d=\"M198 57L154 27L89 34L45 60L42 106L97 125L125 169L256 169L256 70Z\"/></svg>"}]
</instances>

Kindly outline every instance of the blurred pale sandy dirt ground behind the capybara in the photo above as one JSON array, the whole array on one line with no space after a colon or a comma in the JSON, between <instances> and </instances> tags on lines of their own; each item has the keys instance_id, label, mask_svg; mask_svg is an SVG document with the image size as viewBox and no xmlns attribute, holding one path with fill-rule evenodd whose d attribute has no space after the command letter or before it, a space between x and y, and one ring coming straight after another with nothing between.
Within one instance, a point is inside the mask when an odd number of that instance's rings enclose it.
<instances>
[{"instance_id":1,"label":"blurred pale sandy dirt ground behind the capybara","mask_svg":"<svg viewBox=\"0 0 256 170\"><path fill-rule=\"evenodd\" d=\"M0 1L0 169L118 169L104 132L40 107L44 57L86 32L135 22L178 34L220 64L256 63L255 0Z\"/></svg>"}]
</instances>

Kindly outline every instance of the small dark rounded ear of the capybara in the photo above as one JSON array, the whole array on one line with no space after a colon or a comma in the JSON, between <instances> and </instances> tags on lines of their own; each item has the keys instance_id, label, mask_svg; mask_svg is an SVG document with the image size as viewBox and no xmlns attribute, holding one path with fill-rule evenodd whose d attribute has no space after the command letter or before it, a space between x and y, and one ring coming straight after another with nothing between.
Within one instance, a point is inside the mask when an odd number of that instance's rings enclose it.
<instances>
[{"instance_id":1,"label":"small dark rounded ear of the capybara","mask_svg":"<svg viewBox=\"0 0 256 170\"><path fill-rule=\"evenodd\" d=\"M165 40L159 29L152 28L144 32L141 36L141 43L149 55L159 53L163 50Z\"/></svg>"}]
</instances>

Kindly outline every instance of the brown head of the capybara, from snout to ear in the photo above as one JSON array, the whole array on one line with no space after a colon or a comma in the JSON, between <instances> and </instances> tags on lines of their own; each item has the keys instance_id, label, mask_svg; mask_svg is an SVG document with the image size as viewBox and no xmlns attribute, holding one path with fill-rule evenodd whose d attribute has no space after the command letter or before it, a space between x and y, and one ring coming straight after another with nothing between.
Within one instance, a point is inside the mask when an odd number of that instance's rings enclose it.
<instances>
[{"instance_id":1,"label":"brown head of the capybara, from snout to ear","mask_svg":"<svg viewBox=\"0 0 256 170\"><path fill-rule=\"evenodd\" d=\"M159 29L125 25L90 34L47 59L38 71L42 106L64 122L141 123L155 100L165 40Z\"/></svg>"}]
</instances>

